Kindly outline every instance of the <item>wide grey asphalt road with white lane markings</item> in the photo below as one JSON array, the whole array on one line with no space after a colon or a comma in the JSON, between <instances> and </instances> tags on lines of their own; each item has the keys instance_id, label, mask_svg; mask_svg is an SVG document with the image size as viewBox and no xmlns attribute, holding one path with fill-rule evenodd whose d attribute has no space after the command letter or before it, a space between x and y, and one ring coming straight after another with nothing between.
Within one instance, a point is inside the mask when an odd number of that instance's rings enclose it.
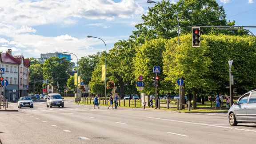
<instances>
[{"instance_id":1,"label":"wide grey asphalt road with white lane markings","mask_svg":"<svg viewBox=\"0 0 256 144\"><path fill-rule=\"evenodd\" d=\"M9 107L0 112L3 144L247 144L255 143L256 124L230 126L224 113L191 114L158 109L78 105L64 99L64 108Z\"/></svg>"}]
</instances>

